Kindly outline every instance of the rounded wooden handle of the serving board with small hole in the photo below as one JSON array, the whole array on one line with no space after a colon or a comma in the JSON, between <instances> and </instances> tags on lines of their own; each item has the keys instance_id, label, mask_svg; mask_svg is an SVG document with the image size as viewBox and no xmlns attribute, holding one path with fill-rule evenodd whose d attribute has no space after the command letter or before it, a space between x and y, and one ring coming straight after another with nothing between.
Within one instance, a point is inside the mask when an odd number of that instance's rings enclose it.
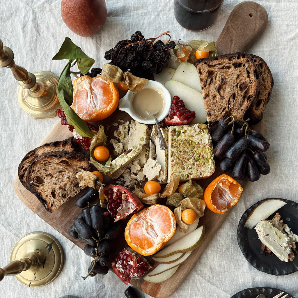
<instances>
[{"instance_id":1,"label":"rounded wooden handle of the serving board with small hole","mask_svg":"<svg viewBox=\"0 0 298 298\"><path fill-rule=\"evenodd\" d=\"M264 31L268 14L254 1L244 1L235 6L215 42L218 55L245 52Z\"/></svg>"}]
</instances>

